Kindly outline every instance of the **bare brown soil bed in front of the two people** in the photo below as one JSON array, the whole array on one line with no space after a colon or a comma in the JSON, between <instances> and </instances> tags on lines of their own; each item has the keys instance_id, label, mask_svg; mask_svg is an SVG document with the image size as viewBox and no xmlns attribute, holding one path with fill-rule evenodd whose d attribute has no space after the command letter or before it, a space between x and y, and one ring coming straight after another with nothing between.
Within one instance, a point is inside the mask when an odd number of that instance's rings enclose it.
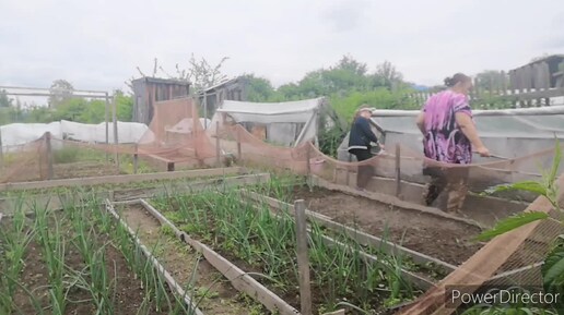
<instances>
[{"instance_id":1,"label":"bare brown soil bed in front of the two people","mask_svg":"<svg viewBox=\"0 0 564 315\"><path fill-rule=\"evenodd\" d=\"M481 229L461 221L321 187L314 187L313 192L307 186L296 187L290 195L290 199L304 199L308 209L337 222L453 265L463 263L481 247L472 242Z\"/></svg>"}]
</instances>

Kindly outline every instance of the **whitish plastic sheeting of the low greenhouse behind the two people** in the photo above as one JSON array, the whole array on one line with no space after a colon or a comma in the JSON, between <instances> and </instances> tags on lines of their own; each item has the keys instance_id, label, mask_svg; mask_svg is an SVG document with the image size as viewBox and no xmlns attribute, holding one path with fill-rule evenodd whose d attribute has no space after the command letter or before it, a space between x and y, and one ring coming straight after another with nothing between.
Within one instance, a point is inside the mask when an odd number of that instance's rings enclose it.
<instances>
[{"instance_id":1,"label":"whitish plastic sheeting of the low greenhouse behind the two people","mask_svg":"<svg viewBox=\"0 0 564 315\"><path fill-rule=\"evenodd\" d=\"M388 150L396 144L423 152L423 135L415 125L419 110L377 110L374 124L381 130ZM564 138L564 106L506 110L474 110L478 133L490 152L501 158L527 156L554 147ZM339 146L340 160L349 160L348 137ZM474 156L475 162L493 158ZM354 160L354 159L353 159Z\"/></svg>"}]
</instances>

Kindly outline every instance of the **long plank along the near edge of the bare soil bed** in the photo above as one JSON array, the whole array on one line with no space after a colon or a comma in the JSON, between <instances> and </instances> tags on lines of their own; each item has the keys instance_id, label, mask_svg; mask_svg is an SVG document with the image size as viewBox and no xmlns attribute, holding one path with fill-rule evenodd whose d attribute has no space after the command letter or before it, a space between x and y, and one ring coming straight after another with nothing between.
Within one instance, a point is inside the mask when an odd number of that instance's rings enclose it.
<instances>
[{"instance_id":1,"label":"long plank along the near edge of the bare soil bed","mask_svg":"<svg viewBox=\"0 0 564 315\"><path fill-rule=\"evenodd\" d=\"M249 191L242 190L242 194L244 194L245 197L248 197L248 198L250 198L250 199L252 199L255 202L266 203L270 207L272 207L274 209L278 209L278 210L285 210L285 209L287 209L289 211L292 211L293 207L294 207L291 204L278 201L278 199L269 197L269 196L263 196L263 195L257 194L255 192L249 192ZM306 209L306 216L307 216L307 219L309 221L316 222L317 225L319 225L321 227L325 227L325 228L327 228L327 229L329 229L331 231L339 232L339 233L344 233L349 238L351 238L351 239L355 240L356 242L359 242L361 245L369 245L369 246L374 246L376 249L379 249L380 251L383 251L385 253L389 253L389 254L393 254L393 255L407 256L407 257L410 257L411 259L413 259L413 262L415 262L418 264L422 264L422 265L433 264L433 265L437 266L438 268L440 268L445 272L451 272L451 271L454 271L457 268L457 266L448 264L448 263L445 263L445 262L443 262L440 259L437 259L435 257L427 256L427 255L422 254L420 252L416 252L416 251L403 247L401 245L398 245L398 244L396 244L393 242L390 242L390 241L387 241L387 240L383 240L383 239L380 239L378 237L365 233L365 232L360 231L357 229L354 229L354 228L351 228L351 227L346 227L346 226L341 225L339 222L334 222L329 217L326 217L324 215L317 214L315 211Z\"/></svg>"}]
</instances>

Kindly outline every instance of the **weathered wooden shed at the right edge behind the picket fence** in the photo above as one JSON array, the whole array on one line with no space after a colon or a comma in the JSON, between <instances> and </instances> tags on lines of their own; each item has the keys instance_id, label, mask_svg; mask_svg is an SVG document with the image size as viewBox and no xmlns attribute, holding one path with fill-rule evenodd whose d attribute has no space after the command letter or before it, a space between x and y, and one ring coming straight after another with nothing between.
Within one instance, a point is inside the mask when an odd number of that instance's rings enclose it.
<instances>
[{"instance_id":1,"label":"weathered wooden shed at the right edge behind the picket fence","mask_svg":"<svg viewBox=\"0 0 564 315\"><path fill-rule=\"evenodd\" d=\"M564 54L553 54L509 71L512 89L564 87Z\"/></svg>"}]
</instances>

